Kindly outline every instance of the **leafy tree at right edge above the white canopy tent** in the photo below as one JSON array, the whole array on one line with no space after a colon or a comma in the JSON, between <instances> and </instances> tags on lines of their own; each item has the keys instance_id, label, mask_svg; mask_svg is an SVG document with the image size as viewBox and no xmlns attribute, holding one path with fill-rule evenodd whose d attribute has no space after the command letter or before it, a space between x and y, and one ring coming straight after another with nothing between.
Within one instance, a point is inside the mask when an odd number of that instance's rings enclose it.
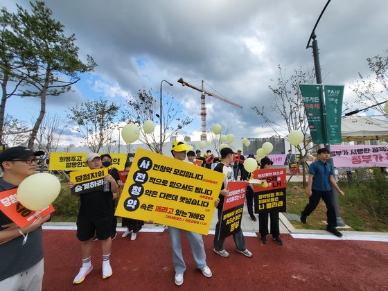
<instances>
[{"instance_id":1,"label":"leafy tree at right edge above the white canopy tent","mask_svg":"<svg viewBox=\"0 0 388 291\"><path fill-rule=\"evenodd\" d=\"M371 74L364 76L358 73L358 80L353 82L352 87L358 99L353 104L346 103L349 108L354 107L354 105L367 108L388 100L388 49L385 50L385 55L367 58L367 63ZM374 108L388 118L384 111L384 104Z\"/></svg>"}]
</instances>

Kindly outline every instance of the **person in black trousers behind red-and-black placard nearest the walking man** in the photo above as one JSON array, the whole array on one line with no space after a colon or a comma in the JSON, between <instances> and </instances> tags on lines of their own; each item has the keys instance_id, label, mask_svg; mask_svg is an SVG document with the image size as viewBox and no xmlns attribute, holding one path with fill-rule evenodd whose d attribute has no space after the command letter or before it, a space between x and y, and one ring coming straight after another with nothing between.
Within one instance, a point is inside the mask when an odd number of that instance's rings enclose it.
<instances>
[{"instance_id":1,"label":"person in black trousers behind red-and-black placard nearest the walking man","mask_svg":"<svg viewBox=\"0 0 388 291\"><path fill-rule=\"evenodd\" d=\"M269 169L274 164L273 161L268 157L263 157L260 161L261 169ZM272 240L278 245L283 245L283 240L280 238L280 229L279 229L279 212L271 211L270 213L258 213L258 231L260 232L261 243L267 243L267 234L268 234L268 215L270 215L271 223L271 234Z\"/></svg>"}]
</instances>

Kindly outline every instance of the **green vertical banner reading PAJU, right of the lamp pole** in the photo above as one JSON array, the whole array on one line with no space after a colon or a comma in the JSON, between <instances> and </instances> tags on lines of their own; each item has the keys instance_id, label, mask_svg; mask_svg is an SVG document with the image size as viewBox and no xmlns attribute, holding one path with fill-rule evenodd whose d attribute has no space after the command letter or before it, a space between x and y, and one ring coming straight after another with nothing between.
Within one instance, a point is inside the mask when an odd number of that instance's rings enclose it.
<instances>
[{"instance_id":1,"label":"green vertical banner reading PAJU, right of the lamp pole","mask_svg":"<svg viewBox=\"0 0 388 291\"><path fill-rule=\"evenodd\" d=\"M325 85L324 90L328 143L342 143L341 113L344 85Z\"/></svg>"}]
</instances>

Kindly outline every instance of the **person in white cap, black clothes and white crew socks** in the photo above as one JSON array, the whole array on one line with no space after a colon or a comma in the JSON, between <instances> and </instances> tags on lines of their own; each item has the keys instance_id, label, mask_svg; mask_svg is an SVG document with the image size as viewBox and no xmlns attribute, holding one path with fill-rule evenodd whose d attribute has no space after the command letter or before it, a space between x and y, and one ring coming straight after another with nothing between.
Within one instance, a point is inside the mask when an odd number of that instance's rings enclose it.
<instances>
[{"instance_id":1,"label":"person in white cap, black clothes and white crew socks","mask_svg":"<svg viewBox=\"0 0 388 291\"><path fill-rule=\"evenodd\" d=\"M98 154L92 152L85 158L85 164L91 170L103 166ZM80 209L77 216L77 238L81 242L82 267L73 280L73 284L82 283L86 276L93 270L91 265L91 251L93 249L94 234L101 240L103 248L103 279L112 276L110 265L110 252L112 249L112 203L113 194L118 191L118 184L112 175L106 175L105 181L109 183L109 191L94 191L80 195ZM74 186L69 182L69 188Z\"/></svg>"}]
</instances>

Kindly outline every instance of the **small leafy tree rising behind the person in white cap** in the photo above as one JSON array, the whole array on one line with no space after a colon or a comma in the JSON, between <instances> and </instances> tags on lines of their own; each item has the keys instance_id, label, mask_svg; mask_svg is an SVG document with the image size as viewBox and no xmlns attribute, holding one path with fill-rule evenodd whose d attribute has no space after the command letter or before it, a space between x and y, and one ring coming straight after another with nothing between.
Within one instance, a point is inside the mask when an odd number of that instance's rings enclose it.
<instances>
[{"instance_id":1,"label":"small leafy tree rising behind the person in white cap","mask_svg":"<svg viewBox=\"0 0 388 291\"><path fill-rule=\"evenodd\" d=\"M117 129L115 118L118 107L108 100L88 100L69 108L67 115L76 123L74 130L80 132L87 147L92 152L99 152L103 145L112 143L112 132Z\"/></svg>"}]
</instances>

